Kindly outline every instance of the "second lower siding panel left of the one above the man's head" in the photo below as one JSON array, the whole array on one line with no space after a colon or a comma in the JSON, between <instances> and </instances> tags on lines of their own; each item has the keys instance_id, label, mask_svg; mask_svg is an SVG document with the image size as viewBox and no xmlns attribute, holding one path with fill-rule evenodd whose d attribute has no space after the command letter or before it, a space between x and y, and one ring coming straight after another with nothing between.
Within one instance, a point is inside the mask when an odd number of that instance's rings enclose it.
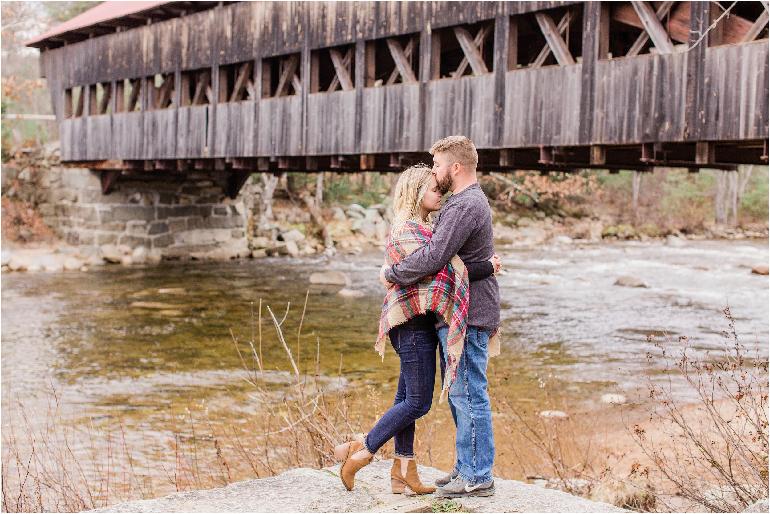
<instances>
[{"instance_id":1,"label":"second lower siding panel left of the one above the man's head","mask_svg":"<svg viewBox=\"0 0 770 514\"><path fill-rule=\"evenodd\" d=\"M356 92L307 95L307 155L356 152Z\"/></svg>"}]
</instances>

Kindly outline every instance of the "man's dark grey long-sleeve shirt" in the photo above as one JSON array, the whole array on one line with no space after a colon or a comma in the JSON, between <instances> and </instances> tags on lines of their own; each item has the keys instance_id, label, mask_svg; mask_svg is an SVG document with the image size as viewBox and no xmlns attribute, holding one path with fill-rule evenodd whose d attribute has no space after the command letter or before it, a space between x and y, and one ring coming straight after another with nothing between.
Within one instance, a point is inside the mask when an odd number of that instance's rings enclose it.
<instances>
[{"instance_id":1,"label":"man's dark grey long-sleeve shirt","mask_svg":"<svg viewBox=\"0 0 770 514\"><path fill-rule=\"evenodd\" d=\"M468 186L451 195L434 219L430 243L385 270L388 282L412 285L435 275L457 254L463 262L481 262L494 254L489 202L481 186ZM494 275L470 282L468 325L484 330L500 326L500 289Z\"/></svg>"}]
</instances>

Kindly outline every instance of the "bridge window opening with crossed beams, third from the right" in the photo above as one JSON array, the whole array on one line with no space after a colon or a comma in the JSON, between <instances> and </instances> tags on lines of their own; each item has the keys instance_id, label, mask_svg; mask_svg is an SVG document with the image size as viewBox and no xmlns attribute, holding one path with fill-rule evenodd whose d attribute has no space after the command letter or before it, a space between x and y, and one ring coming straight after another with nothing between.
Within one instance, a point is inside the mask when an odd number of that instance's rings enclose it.
<instances>
[{"instance_id":1,"label":"bridge window opening with crossed beams, third from the right","mask_svg":"<svg viewBox=\"0 0 770 514\"><path fill-rule=\"evenodd\" d=\"M566 66L581 62L582 5L518 15L511 19L511 25L516 30L516 55L511 55L509 68Z\"/></svg>"}]
</instances>

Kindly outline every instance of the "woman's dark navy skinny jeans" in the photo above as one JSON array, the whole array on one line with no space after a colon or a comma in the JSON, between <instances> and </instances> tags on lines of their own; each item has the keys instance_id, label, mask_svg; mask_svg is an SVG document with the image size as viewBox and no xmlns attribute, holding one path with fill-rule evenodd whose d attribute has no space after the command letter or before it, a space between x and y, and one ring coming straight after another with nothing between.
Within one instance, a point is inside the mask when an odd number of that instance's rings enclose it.
<instances>
[{"instance_id":1,"label":"woman's dark navy skinny jeans","mask_svg":"<svg viewBox=\"0 0 770 514\"><path fill-rule=\"evenodd\" d=\"M393 407L367 434L363 445L374 454L393 439L397 457L414 456L414 422L430 411L436 382L435 329L410 330L393 327L390 344L401 359L398 391Z\"/></svg>"}]
</instances>

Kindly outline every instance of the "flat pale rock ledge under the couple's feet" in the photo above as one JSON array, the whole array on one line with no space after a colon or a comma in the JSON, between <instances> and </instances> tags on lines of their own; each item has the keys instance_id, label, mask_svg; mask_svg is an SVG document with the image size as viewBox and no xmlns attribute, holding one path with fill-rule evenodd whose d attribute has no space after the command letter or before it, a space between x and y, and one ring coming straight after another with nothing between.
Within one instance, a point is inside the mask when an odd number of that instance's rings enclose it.
<instances>
[{"instance_id":1,"label":"flat pale rock ledge under the couple's feet","mask_svg":"<svg viewBox=\"0 0 770 514\"><path fill-rule=\"evenodd\" d=\"M236 482L221 489L177 492L165 498L125 502L87 512L365 512L405 499L390 492L393 461L373 462L360 470L347 491L340 466L292 469L266 479ZM418 466L424 483L446 473ZM467 512L629 512L609 503L591 502L554 489L517 480L494 479L497 492L487 498L462 498ZM420 497L423 498L423 497ZM428 501L448 501L427 495Z\"/></svg>"}]
</instances>

